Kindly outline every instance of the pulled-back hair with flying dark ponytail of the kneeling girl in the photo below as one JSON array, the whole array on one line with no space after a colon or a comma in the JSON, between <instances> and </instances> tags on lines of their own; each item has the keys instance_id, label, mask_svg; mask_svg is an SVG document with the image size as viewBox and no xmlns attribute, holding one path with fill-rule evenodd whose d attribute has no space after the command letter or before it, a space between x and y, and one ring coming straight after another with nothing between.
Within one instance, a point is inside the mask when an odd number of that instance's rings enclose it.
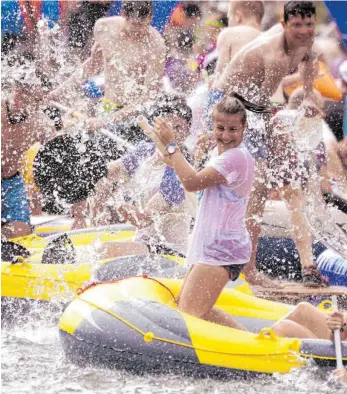
<instances>
[{"instance_id":1,"label":"pulled-back hair with flying dark ponytail of the kneeling girl","mask_svg":"<svg viewBox=\"0 0 347 394\"><path fill-rule=\"evenodd\" d=\"M224 96L222 100L216 104L214 109L217 112L234 115L242 114L242 121L246 122L247 113L246 110L255 113L270 113L271 109L265 107L264 105L258 105L247 101L238 93L231 93L229 96Z\"/></svg>"}]
</instances>

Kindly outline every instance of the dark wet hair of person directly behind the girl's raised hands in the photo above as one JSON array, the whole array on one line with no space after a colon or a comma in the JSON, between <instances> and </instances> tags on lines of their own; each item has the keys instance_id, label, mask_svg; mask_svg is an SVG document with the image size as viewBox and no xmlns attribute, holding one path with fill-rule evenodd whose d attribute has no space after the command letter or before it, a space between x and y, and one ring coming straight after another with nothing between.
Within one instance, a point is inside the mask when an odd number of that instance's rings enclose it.
<instances>
[{"instance_id":1,"label":"dark wet hair of person directly behind the girl's raised hands","mask_svg":"<svg viewBox=\"0 0 347 394\"><path fill-rule=\"evenodd\" d=\"M187 104L185 97L178 94L163 94L159 96L149 112L151 121L157 116L178 116L184 119L189 127L192 124L192 110Z\"/></svg>"}]
</instances>

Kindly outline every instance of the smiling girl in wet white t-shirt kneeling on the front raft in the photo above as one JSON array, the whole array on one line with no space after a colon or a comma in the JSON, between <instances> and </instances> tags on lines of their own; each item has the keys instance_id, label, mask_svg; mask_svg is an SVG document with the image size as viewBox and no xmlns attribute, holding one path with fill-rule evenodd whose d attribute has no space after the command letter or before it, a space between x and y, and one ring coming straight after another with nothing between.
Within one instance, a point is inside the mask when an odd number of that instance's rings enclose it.
<instances>
[{"instance_id":1,"label":"smiling girl in wet white t-shirt kneeling on the front raft","mask_svg":"<svg viewBox=\"0 0 347 394\"><path fill-rule=\"evenodd\" d=\"M156 132L167 147L184 188L199 192L196 223L187 255L192 268L179 297L183 312L218 324L244 329L229 314L214 308L224 286L236 280L251 255L245 212L254 160L243 144L246 109L242 97L224 97L213 109L217 147L206 167L196 172L185 160L165 121Z\"/></svg>"}]
</instances>

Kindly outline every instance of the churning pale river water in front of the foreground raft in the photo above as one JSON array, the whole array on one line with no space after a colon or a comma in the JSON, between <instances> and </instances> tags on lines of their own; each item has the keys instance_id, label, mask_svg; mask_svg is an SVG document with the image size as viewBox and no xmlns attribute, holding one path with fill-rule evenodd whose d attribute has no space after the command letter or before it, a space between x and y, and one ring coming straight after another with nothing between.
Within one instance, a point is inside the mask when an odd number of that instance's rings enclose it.
<instances>
[{"instance_id":1,"label":"churning pale river water in front of the foreground raft","mask_svg":"<svg viewBox=\"0 0 347 394\"><path fill-rule=\"evenodd\" d=\"M96 367L78 367L64 358L57 323L61 311L38 306L2 327L2 393L346 393L328 370L312 365L287 375L252 380L197 380L177 375L132 375Z\"/></svg>"}]
</instances>

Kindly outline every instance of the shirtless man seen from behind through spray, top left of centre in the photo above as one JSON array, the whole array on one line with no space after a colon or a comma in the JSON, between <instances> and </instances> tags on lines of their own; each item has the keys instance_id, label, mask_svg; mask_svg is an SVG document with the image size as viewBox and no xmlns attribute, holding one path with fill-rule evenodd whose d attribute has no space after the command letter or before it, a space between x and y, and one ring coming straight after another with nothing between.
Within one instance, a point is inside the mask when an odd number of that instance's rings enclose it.
<instances>
[{"instance_id":1,"label":"shirtless man seen from behind through spray, top left of centre","mask_svg":"<svg viewBox=\"0 0 347 394\"><path fill-rule=\"evenodd\" d=\"M60 100L67 87L80 87L91 76L105 75L105 100L117 115L107 119L91 118L88 126L97 129L110 121L122 119L134 107L154 99L162 86L165 43L150 26L152 1L123 1L124 17L99 19L94 27L95 44L83 63L83 75L73 76L50 94Z\"/></svg>"}]
</instances>

